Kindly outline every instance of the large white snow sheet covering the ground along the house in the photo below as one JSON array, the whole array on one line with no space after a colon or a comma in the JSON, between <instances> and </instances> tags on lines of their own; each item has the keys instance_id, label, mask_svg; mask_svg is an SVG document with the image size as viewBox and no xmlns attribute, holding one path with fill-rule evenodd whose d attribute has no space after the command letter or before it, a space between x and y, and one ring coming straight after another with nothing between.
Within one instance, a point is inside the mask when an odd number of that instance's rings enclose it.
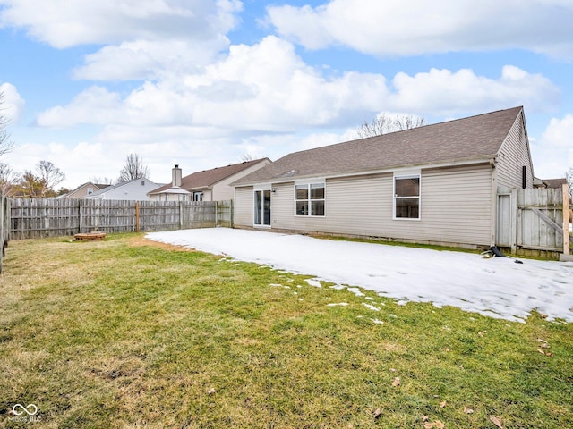
<instances>
[{"instance_id":1,"label":"large white snow sheet covering the ground along the house","mask_svg":"<svg viewBox=\"0 0 573 429\"><path fill-rule=\"evenodd\" d=\"M150 240L315 276L306 282L360 287L378 295L432 302L523 322L536 309L573 322L573 263L402 248L228 228L150 232ZM354 290L352 290L354 291Z\"/></svg>"}]
</instances>

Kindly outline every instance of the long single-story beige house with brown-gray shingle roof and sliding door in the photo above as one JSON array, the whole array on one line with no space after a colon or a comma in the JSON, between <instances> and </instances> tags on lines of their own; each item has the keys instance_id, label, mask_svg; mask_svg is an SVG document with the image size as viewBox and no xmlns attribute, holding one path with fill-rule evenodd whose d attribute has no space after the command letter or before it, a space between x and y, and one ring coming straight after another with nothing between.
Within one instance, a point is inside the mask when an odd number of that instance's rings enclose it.
<instances>
[{"instance_id":1,"label":"long single-story beige house with brown-gray shingle roof and sliding door","mask_svg":"<svg viewBox=\"0 0 573 429\"><path fill-rule=\"evenodd\" d=\"M515 107L284 156L233 184L235 226L485 247L533 181Z\"/></svg>"}]
</instances>

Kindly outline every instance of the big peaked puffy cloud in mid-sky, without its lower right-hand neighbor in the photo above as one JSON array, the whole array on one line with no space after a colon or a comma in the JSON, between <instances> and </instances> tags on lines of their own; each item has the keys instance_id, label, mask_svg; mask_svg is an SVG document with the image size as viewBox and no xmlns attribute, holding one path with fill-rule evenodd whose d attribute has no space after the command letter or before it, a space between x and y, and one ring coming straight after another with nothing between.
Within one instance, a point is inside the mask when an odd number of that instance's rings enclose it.
<instances>
[{"instance_id":1,"label":"big peaked puffy cloud in mid-sky, without its lower right-hand neighbor","mask_svg":"<svg viewBox=\"0 0 573 429\"><path fill-rule=\"evenodd\" d=\"M227 57L200 73L148 81L123 99L106 88L88 88L69 105L40 114L38 124L297 130L339 122L356 109L375 111L387 95L385 81L354 72L327 79L295 55L294 46L269 37L231 46Z\"/></svg>"}]
</instances>

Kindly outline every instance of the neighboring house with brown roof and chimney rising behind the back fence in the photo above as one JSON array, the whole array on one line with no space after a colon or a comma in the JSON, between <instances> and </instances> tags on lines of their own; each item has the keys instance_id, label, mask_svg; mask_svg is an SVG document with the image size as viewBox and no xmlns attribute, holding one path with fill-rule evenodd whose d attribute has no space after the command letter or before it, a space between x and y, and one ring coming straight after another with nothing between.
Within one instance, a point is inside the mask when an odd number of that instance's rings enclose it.
<instances>
[{"instance_id":1,"label":"neighboring house with brown roof and chimney rising behind the back fence","mask_svg":"<svg viewBox=\"0 0 573 429\"><path fill-rule=\"evenodd\" d=\"M149 193L150 201L223 201L233 199L229 184L270 164L269 158L193 172L182 178L178 164L172 170L171 183Z\"/></svg>"}]
</instances>

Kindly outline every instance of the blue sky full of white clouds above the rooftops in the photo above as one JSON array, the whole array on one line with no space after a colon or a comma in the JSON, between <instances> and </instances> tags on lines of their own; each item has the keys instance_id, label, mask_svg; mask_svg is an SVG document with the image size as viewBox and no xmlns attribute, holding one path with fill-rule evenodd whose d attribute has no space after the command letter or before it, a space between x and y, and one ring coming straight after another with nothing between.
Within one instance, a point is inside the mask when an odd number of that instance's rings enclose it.
<instances>
[{"instance_id":1,"label":"blue sky full of white clouds above the rooftops","mask_svg":"<svg viewBox=\"0 0 573 429\"><path fill-rule=\"evenodd\" d=\"M75 188L137 153L150 179L523 105L535 175L573 166L571 0L0 0L16 145Z\"/></svg>"}]
</instances>

